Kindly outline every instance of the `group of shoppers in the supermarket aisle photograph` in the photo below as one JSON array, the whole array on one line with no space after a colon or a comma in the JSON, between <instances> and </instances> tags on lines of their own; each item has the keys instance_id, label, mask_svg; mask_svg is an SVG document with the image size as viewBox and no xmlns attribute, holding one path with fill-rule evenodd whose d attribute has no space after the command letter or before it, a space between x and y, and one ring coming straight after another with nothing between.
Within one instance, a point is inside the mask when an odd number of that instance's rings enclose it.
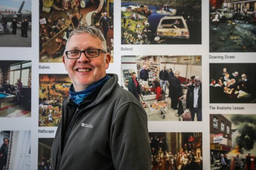
<instances>
[{"instance_id":1,"label":"group of shoppers in the supermarket aisle photograph","mask_svg":"<svg viewBox=\"0 0 256 170\"><path fill-rule=\"evenodd\" d=\"M156 101L165 100L168 84L168 97L171 98L171 108L178 110L179 115L189 112L191 115L189 120L194 121L196 115L197 121L202 121L202 85L199 76L192 76L189 83L181 83L178 70L173 73L171 68L167 71L166 67L163 67L159 72L158 78L149 82L149 73L150 69L147 69L144 65L139 72L140 80L137 80L135 72L129 78L128 90L138 100L139 95L142 94L140 88L141 81L147 81L148 84L152 84L149 88L155 92ZM186 92L183 89L186 89ZM181 100L184 100L184 102L182 103ZM187 110L184 110L184 108Z\"/></svg>"}]
</instances>

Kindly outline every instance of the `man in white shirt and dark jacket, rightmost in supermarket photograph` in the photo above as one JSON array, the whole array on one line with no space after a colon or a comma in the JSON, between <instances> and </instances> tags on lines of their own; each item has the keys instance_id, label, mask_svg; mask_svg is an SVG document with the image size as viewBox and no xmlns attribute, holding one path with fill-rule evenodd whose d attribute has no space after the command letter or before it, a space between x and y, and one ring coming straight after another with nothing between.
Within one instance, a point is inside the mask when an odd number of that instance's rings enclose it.
<instances>
[{"instance_id":1,"label":"man in white shirt and dark jacket, rightmost in supermarket photograph","mask_svg":"<svg viewBox=\"0 0 256 170\"><path fill-rule=\"evenodd\" d=\"M197 121L202 121L202 85L200 77L195 76L194 84L190 85L187 92L186 105L190 110L191 119L194 121L195 113Z\"/></svg>"}]
</instances>

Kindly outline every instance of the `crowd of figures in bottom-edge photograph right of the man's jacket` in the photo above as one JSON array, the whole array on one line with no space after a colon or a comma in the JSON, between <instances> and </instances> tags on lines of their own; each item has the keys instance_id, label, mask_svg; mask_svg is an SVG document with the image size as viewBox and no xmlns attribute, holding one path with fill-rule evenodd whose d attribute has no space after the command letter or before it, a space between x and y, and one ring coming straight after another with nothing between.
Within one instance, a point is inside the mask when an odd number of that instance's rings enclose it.
<instances>
[{"instance_id":1,"label":"crowd of figures in bottom-edge photograph right of the man's jacket","mask_svg":"<svg viewBox=\"0 0 256 170\"><path fill-rule=\"evenodd\" d=\"M149 136L151 170L202 170L202 157L195 156L195 139L193 136L189 139L177 153L172 153L164 136Z\"/></svg>"}]
</instances>

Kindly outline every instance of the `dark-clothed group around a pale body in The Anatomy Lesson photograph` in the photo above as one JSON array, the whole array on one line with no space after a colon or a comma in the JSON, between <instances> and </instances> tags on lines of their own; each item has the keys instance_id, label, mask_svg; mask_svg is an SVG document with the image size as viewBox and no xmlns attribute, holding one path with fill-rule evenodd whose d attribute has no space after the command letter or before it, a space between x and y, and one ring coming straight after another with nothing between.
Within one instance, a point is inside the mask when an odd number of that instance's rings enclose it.
<instances>
[{"instance_id":1,"label":"dark-clothed group around a pale body in The Anatomy Lesson photograph","mask_svg":"<svg viewBox=\"0 0 256 170\"><path fill-rule=\"evenodd\" d=\"M245 73L229 73L223 68L217 79L210 80L211 103L250 102L254 96L253 83Z\"/></svg>"}]
</instances>

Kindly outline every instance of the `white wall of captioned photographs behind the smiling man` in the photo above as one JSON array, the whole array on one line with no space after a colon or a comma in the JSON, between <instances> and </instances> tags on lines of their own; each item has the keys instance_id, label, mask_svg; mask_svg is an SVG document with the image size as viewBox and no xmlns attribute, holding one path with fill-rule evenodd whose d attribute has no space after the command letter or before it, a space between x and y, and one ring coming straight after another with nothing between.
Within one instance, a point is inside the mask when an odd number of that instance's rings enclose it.
<instances>
[{"instance_id":1,"label":"white wall of captioned photographs behind the smiling man","mask_svg":"<svg viewBox=\"0 0 256 170\"><path fill-rule=\"evenodd\" d=\"M256 0L9 0L0 170L50 169L72 84L62 56L86 25L106 39L107 73L145 109L152 170L256 169Z\"/></svg>"}]
</instances>

